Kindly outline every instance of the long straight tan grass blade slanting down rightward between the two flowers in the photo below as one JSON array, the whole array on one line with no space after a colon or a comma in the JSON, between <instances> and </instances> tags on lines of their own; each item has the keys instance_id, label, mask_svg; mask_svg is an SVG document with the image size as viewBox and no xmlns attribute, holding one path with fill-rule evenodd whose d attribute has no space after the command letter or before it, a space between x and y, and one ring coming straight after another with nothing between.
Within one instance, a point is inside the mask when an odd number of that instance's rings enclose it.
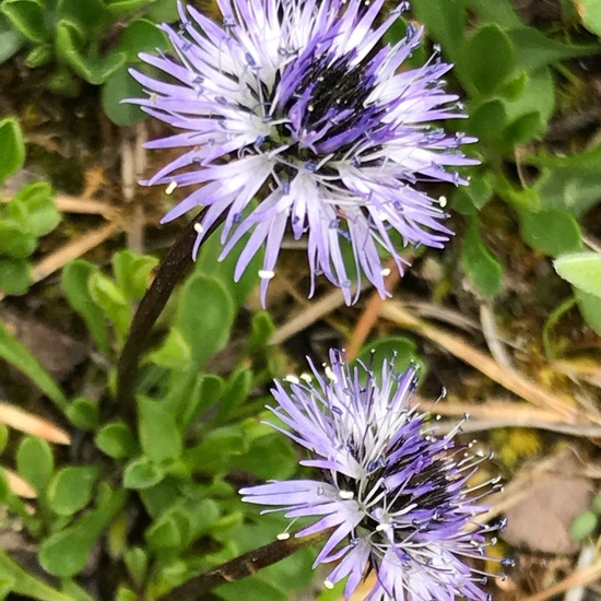
<instances>
[{"instance_id":1,"label":"long straight tan grass blade slanting down rightward between the two flowers","mask_svg":"<svg viewBox=\"0 0 601 601\"><path fill-rule=\"evenodd\" d=\"M479 372L518 397L535 406L555 412L563 421L574 424L580 416L578 410L568 406L566 401L550 390L543 389L541 385L517 372L499 366L494 360L474 349L473 345L466 342L462 338L439 330L417 319L400 303L393 300L386 303L382 306L381 316L443 346L443 349L472 367L475 367Z\"/></svg>"}]
</instances>

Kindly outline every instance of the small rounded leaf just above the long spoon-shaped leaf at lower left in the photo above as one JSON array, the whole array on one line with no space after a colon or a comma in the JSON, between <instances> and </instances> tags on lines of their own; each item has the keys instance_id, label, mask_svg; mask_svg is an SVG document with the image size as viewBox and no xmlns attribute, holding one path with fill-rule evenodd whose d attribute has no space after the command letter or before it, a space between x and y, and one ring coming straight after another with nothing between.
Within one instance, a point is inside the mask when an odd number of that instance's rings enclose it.
<instances>
[{"instance_id":1,"label":"small rounded leaf just above the long spoon-shaped leaf at lower left","mask_svg":"<svg viewBox=\"0 0 601 601\"><path fill-rule=\"evenodd\" d=\"M50 509L59 516L72 516L92 499L92 490L98 476L96 467L69 466L50 480L46 497Z\"/></svg>"}]
</instances>

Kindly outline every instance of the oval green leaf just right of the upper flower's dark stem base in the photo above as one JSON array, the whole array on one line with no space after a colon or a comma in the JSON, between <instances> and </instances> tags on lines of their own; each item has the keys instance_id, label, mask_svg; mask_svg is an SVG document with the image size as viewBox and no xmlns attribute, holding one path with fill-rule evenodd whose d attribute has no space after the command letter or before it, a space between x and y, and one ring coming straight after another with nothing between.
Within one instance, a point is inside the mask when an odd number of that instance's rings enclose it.
<instances>
[{"instance_id":1,"label":"oval green leaf just right of the upper flower's dark stem base","mask_svg":"<svg viewBox=\"0 0 601 601\"><path fill-rule=\"evenodd\" d=\"M176 459L181 455L181 435L175 417L160 401L139 399L140 443L153 461Z\"/></svg>"}]
</instances>

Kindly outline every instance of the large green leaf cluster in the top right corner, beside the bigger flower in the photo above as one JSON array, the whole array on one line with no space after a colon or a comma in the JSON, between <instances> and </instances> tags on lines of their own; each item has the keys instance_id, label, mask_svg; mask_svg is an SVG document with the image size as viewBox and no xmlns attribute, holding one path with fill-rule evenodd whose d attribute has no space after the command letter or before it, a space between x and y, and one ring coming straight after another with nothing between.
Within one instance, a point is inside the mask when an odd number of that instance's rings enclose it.
<instances>
[{"instance_id":1,"label":"large green leaf cluster in the top right corner, beside the bigger flower","mask_svg":"<svg viewBox=\"0 0 601 601\"><path fill-rule=\"evenodd\" d=\"M581 4L577 14L566 3L564 20L580 17L599 35L597 4ZM591 35L574 42L567 32L562 38L543 33L527 25L509 0L415 0L413 7L427 35L455 63L456 83L467 94L461 128L479 139L471 152L481 165L470 168L470 185L449 198L451 209L466 220L461 267L483 297L500 297L504 259L482 236L499 211L516 224L521 240L543 256L584 249L584 220L601 200L601 145L593 140L580 152L565 154L573 144L553 153L542 142L562 95L577 85L565 64L597 57L601 43ZM566 82L561 86L562 79ZM598 296L579 287L575 294L585 320L601 332Z\"/></svg>"}]
</instances>

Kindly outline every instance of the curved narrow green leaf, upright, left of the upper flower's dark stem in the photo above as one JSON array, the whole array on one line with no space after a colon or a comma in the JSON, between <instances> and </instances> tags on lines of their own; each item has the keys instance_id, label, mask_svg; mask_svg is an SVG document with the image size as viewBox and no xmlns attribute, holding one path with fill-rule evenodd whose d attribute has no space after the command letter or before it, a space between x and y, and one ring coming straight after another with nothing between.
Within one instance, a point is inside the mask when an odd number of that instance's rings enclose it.
<instances>
[{"instance_id":1,"label":"curved narrow green leaf, upright, left of the upper flower's dark stem","mask_svg":"<svg viewBox=\"0 0 601 601\"><path fill-rule=\"evenodd\" d=\"M90 293L90 280L95 273L99 273L96 266L75 259L63 268L60 284L69 304L84 320L98 350L107 354L108 329L105 314Z\"/></svg>"}]
</instances>

